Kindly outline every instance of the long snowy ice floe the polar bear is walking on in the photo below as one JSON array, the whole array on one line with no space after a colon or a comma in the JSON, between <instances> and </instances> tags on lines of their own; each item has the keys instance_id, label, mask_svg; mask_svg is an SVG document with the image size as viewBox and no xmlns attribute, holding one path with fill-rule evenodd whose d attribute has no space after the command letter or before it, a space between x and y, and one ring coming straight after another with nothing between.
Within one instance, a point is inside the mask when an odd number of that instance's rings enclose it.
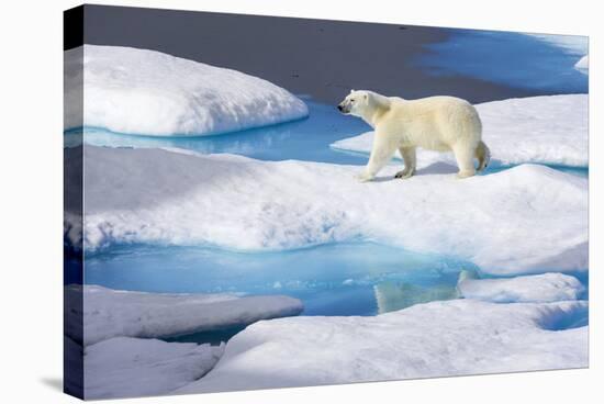
<instances>
[{"instance_id":1,"label":"long snowy ice floe the polar bear is walking on","mask_svg":"<svg viewBox=\"0 0 604 404\"><path fill-rule=\"evenodd\" d=\"M485 273L585 270L588 181L536 165L456 180L433 165L260 161L233 155L86 147L87 250L119 243L262 251L374 240L472 261ZM69 184L67 184L69 187Z\"/></svg>"}]
</instances>

